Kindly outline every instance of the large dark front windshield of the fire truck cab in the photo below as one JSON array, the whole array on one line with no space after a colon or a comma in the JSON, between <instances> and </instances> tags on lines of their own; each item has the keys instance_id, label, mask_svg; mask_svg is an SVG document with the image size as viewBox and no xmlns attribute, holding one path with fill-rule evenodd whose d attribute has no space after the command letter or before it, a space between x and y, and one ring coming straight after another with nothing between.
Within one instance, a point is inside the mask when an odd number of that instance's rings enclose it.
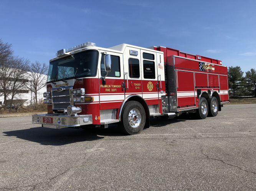
<instances>
[{"instance_id":1,"label":"large dark front windshield of the fire truck cab","mask_svg":"<svg viewBox=\"0 0 256 191\"><path fill-rule=\"evenodd\" d=\"M96 76L99 52L87 50L50 62L47 82Z\"/></svg>"}]
</instances>

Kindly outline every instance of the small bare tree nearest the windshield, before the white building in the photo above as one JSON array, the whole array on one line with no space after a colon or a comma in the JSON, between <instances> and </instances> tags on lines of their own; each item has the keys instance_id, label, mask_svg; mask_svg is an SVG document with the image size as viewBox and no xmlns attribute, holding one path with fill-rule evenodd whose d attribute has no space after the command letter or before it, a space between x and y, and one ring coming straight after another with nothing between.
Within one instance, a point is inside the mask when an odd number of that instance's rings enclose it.
<instances>
[{"instance_id":1,"label":"small bare tree nearest the windshield, before the white building","mask_svg":"<svg viewBox=\"0 0 256 191\"><path fill-rule=\"evenodd\" d=\"M28 78L30 79L30 84L27 88L35 94L36 105L38 105L38 91L46 86L47 73L48 65L45 63L40 64L36 61L35 63L31 63L29 67Z\"/></svg>"}]
</instances>

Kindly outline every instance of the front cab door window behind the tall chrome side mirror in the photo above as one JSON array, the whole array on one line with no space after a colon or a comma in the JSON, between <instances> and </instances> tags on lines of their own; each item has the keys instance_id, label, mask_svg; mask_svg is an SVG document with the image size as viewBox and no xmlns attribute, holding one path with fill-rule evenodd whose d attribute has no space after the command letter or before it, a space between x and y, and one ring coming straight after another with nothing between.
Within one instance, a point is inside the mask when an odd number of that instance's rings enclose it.
<instances>
[{"instance_id":1,"label":"front cab door window behind the tall chrome side mirror","mask_svg":"<svg viewBox=\"0 0 256 191\"><path fill-rule=\"evenodd\" d=\"M112 71L107 74L104 67L104 54L101 56L101 76L107 77L121 77L121 71L120 71L120 57L111 55L111 65L112 65Z\"/></svg>"}]
</instances>

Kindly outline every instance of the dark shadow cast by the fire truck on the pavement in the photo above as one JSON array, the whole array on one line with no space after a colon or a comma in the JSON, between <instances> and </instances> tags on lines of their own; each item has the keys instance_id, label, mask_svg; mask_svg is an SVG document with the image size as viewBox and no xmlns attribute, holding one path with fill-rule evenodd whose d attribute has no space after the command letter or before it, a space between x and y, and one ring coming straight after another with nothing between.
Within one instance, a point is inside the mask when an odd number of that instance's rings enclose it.
<instances>
[{"instance_id":1,"label":"dark shadow cast by the fire truck on the pavement","mask_svg":"<svg viewBox=\"0 0 256 191\"><path fill-rule=\"evenodd\" d=\"M177 123L180 121L185 121L182 119L150 119L150 126L166 126L172 123ZM147 131L144 128L143 131ZM116 124L110 124L109 128L85 128L85 129L73 129L73 128L63 128L63 129L51 129L44 127L35 127L29 129L21 129L15 131L3 132L4 136L16 136L19 139L38 142L41 145L52 145L61 146L66 144L71 144L74 142L84 142L84 141L95 141L99 139L104 139L105 136L127 136L121 132Z\"/></svg>"}]
</instances>

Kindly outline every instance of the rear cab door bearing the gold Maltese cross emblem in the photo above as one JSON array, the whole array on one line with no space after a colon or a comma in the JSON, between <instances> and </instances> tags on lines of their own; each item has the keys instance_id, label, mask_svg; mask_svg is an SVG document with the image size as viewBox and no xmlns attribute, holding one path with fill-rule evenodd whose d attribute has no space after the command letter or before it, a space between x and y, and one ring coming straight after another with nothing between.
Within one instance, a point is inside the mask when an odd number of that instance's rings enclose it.
<instances>
[{"instance_id":1,"label":"rear cab door bearing the gold Maltese cross emblem","mask_svg":"<svg viewBox=\"0 0 256 191\"><path fill-rule=\"evenodd\" d=\"M141 50L142 97L149 105L150 113L159 113L159 88L157 74L157 54Z\"/></svg>"}]
</instances>

